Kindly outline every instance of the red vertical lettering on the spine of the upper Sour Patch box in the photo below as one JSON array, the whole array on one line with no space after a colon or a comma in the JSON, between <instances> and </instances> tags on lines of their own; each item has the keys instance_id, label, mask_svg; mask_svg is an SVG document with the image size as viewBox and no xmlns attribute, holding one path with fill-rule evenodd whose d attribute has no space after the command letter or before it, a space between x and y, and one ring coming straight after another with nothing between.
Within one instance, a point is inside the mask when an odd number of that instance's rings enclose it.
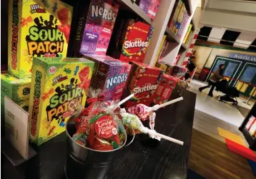
<instances>
[{"instance_id":1,"label":"red vertical lettering on the spine of the upper Sour Patch box","mask_svg":"<svg viewBox=\"0 0 256 179\"><path fill-rule=\"evenodd\" d=\"M19 0L13 0L12 4L12 39L11 39L11 68L14 70L17 66L17 46L19 32Z\"/></svg>"}]
</instances>

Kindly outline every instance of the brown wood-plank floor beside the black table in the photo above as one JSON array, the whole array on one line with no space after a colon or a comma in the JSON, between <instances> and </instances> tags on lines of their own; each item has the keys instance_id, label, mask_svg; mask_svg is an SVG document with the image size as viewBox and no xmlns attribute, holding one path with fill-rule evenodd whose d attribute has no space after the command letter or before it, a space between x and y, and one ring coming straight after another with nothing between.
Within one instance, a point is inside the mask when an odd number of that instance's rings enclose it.
<instances>
[{"instance_id":1,"label":"brown wood-plank floor beside the black table","mask_svg":"<svg viewBox=\"0 0 256 179\"><path fill-rule=\"evenodd\" d=\"M237 126L195 110L189 169L207 179L255 178L247 158L227 148L225 138L218 134L217 127L240 135L246 144Z\"/></svg>"}]
</instances>

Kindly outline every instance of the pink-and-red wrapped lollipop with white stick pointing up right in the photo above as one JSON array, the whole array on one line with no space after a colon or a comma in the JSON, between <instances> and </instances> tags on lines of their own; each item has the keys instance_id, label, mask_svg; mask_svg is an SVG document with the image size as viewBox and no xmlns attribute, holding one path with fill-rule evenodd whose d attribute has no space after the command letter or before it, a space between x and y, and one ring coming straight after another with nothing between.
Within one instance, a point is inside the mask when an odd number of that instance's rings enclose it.
<instances>
[{"instance_id":1,"label":"pink-and-red wrapped lollipop with white stick pointing up right","mask_svg":"<svg viewBox=\"0 0 256 179\"><path fill-rule=\"evenodd\" d=\"M172 103L176 103L178 101L182 101L183 98L179 97L172 101L168 101L167 103L162 103L160 105L154 105L153 107L146 106L144 104L137 104L136 106L132 106L131 108L128 108L128 113L135 114L139 116L139 119L142 121L146 121L149 119L149 127L154 130L154 118L156 117L156 113L154 111L157 111L159 108L162 108L164 106L170 105Z\"/></svg>"}]
</instances>

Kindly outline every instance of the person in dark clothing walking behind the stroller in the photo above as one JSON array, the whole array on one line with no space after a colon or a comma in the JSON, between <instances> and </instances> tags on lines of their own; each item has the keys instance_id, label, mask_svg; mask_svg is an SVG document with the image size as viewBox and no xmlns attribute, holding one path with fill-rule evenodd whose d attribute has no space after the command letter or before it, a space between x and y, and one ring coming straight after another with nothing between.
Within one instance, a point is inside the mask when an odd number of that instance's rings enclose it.
<instances>
[{"instance_id":1,"label":"person in dark clothing walking behind the stroller","mask_svg":"<svg viewBox=\"0 0 256 179\"><path fill-rule=\"evenodd\" d=\"M209 93L208 93L208 96L213 96L212 91L215 89L216 83L218 81L220 81L221 79L223 79L222 73L223 73L224 68L225 68L225 65L221 64L219 66L219 68L215 71L215 73L213 73L211 75L210 80L208 81L208 85L199 88L199 91L202 92L202 90L204 90L205 88L210 88L210 86L212 86Z\"/></svg>"}]
</instances>

